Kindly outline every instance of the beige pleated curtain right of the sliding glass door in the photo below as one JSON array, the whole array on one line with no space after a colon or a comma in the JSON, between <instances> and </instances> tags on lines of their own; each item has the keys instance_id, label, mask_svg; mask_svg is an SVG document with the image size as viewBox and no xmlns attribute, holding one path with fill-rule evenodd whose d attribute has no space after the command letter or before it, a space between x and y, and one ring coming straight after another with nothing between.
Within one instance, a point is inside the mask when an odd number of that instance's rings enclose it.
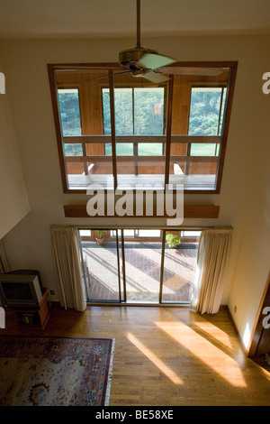
<instances>
[{"instance_id":1,"label":"beige pleated curtain right of the sliding glass door","mask_svg":"<svg viewBox=\"0 0 270 424\"><path fill-rule=\"evenodd\" d=\"M231 229L202 231L191 301L191 309L202 314L220 309L231 233Z\"/></svg>"}]
</instances>

